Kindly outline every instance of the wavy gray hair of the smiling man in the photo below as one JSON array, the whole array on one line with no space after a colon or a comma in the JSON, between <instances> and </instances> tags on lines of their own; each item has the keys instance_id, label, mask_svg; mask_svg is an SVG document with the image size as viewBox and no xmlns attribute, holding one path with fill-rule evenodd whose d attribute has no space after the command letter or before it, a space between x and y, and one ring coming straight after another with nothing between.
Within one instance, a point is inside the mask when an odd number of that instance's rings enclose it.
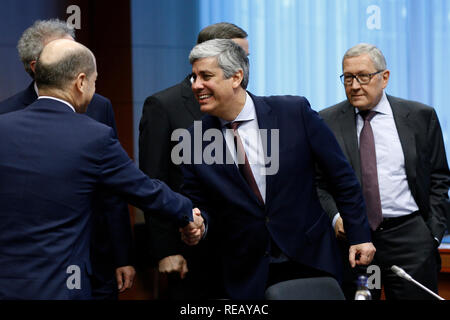
<instances>
[{"instance_id":1,"label":"wavy gray hair of the smiling man","mask_svg":"<svg viewBox=\"0 0 450 320\"><path fill-rule=\"evenodd\" d=\"M247 89L249 80L249 62L244 49L233 40L213 39L196 45L189 54L189 62L193 64L198 59L216 57L225 79L231 78L242 70L244 77L241 87Z\"/></svg>"}]
</instances>

